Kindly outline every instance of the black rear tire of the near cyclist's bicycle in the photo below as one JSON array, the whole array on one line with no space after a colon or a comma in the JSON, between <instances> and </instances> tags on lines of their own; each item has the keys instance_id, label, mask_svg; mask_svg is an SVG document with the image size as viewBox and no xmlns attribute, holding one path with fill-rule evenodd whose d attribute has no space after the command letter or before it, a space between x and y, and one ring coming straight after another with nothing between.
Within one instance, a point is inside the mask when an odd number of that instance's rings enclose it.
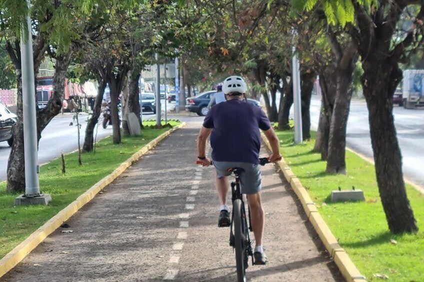
<instances>
[{"instance_id":1,"label":"black rear tire of the near cyclist's bicycle","mask_svg":"<svg viewBox=\"0 0 424 282\"><path fill-rule=\"evenodd\" d=\"M235 265L237 268L237 281L246 282L246 270L244 269L245 260L245 229L243 228L241 218L241 200L236 199L232 203L233 207L233 226L234 226L234 247L235 247Z\"/></svg>"}]
</instances>

